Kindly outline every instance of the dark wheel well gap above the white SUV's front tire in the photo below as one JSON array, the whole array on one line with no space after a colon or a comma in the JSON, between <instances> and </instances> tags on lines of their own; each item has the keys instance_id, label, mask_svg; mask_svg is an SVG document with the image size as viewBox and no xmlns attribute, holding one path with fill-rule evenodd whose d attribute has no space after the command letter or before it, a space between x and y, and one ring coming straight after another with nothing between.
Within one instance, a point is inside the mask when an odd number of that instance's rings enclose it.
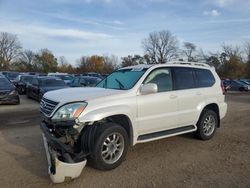
<instances>
[{"instance_id":1,"label":"dark wheel well gap above the white SUV's front tire","mask_svg":"<svg viewBox=\"0 0 250 188\"><path fill-rule=\"evenodd\" d=\"M123 114L113 115L113 116L107 117L106 121L121 125L128 134L130 145L133 145L133 128L132 128L132 123L130 119L128 118L128 116L123 115Z\"/></svg>"}]
</instances>

